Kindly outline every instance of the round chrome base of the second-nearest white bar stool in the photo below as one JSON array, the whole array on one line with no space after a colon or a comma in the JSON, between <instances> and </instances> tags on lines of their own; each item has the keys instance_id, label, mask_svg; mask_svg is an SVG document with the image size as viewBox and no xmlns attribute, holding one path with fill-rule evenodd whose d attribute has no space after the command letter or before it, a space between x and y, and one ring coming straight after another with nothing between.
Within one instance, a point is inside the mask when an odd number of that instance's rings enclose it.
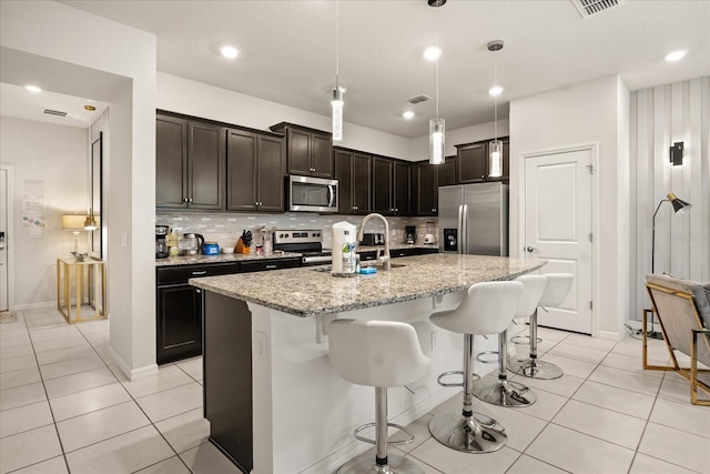
<instances>
[{"instance_id":1,"label":"round chrome base of the second-nearest white bar stool","mask_svg":"<svg viewBox=\"0 0 710 474\"><path fill-rule=\"evenodd\" d=\"M464 453L493 453L508 441L504 427L480 413L440 413L429 420L429 432L439 443Z\"/></svg>"}]
</instances>

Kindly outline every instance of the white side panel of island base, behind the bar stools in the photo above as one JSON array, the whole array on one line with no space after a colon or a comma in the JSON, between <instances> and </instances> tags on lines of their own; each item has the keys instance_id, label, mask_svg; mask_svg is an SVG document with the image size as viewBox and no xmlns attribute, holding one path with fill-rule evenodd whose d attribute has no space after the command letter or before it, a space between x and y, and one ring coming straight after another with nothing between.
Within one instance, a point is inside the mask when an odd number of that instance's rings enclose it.
<instances>
[{"instance_id":1,"label":"white side panel of island base, behind the bar stools","mask_svg":"<svg viewBox=\"0 0 710 474\"><path fill-rule=\"evenodd\" d=\"M454 309L463 294L449 294L437 311ZM337 375L328 360L327 340L316 342L316 317L248 303L253 340L254 473L335 472L371 446L353 437L356 426L375 418L372 387L353 385ZM432 299L338 314L342 317L404 321L417 331L432 369L419 381L389 390L389 421L408 425L456 396L458 389L438 385L440 372L462 365L462 335L428 321ZM233 313L234 314L234 313ZM209 317L209 316L207 316ZM493 339L476 339L476 351L495 347ZM205 341L210 344L210 341ZM476 372L493 370L480 364ZM363 433L371 435L372 433Z\"/></svg>"}]
</instances>

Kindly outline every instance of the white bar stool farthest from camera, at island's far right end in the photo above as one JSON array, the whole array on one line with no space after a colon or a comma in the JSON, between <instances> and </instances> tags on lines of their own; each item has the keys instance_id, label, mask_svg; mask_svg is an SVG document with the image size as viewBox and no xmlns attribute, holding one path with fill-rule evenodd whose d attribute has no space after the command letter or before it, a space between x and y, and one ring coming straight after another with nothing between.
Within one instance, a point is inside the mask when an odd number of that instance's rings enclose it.
<instances>
[{"instance_id":1,"label":"white bar stool farthest from camera, at island's far right end","mask_svg":"<svg viewBox=\"0 0 710 474\"><path fill-rule=\"evenodd\" d=\"M542 309L559 306L567 297L567 294L569 294L575 278L571 273L548 273L545 276L547 278L547 285L537 306ZM535 307L535 311L530 314L530 356L529 359L511 361L508 364L508 370L531 379L559 379L564 374L560 367L537 359L538 307Z\"/></svg>"}]
</instances>

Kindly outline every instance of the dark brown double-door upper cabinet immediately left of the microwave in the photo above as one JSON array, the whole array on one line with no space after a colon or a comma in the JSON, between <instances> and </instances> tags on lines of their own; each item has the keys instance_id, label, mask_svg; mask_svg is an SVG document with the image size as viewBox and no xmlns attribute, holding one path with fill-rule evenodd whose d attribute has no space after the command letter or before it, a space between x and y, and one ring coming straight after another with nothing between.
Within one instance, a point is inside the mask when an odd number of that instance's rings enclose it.
<instances>
[{"instance_id":1,"label":"dark brown double-door upper cabinet immediately left of the microwave","mask_svg":"<svg viewBox=\"0 0 710 474\"><path fill-rule=\"evenodd\" d=\"M282 137L229 129L226 210L283 212L285 154Z\"/></svg>"}]
</instances>

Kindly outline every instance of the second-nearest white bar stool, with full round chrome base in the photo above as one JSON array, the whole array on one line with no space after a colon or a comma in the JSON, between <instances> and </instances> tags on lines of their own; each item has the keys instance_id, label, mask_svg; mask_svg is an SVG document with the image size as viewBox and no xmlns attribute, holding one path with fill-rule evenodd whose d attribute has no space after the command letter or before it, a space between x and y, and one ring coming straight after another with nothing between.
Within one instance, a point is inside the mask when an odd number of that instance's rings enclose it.
<instances>
[{"instance_id":1,"label":"second-nearest white bar stool, with full round chrome base","mask_svg":"<svg viewBox=\"0 0 710 474\"><path fill-rule=\"evenodd\" d=\"M505 428L473 411L474 334L505 331L521 294L520 282L477 283L468 289L456 310L429 316L433 324L464 334L464 407L460 413L440 413L429 421L429 432L439 443L466 453L490 453L505 446Z\"/></svg>"}]
</instances>

